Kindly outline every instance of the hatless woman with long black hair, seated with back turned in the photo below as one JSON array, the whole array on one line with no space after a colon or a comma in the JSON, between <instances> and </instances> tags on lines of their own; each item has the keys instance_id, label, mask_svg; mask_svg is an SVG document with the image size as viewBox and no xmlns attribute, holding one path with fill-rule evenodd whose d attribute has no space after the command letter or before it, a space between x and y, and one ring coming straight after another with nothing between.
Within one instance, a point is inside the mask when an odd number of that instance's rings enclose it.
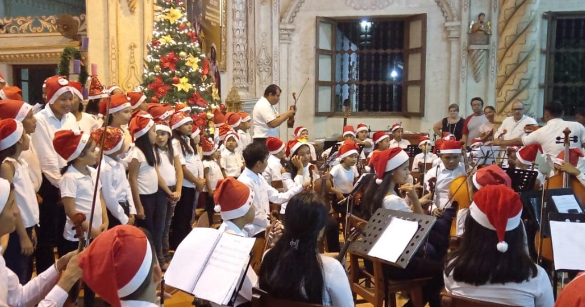
<instances>
[{"instance_id":1,"label":"hatless woman with long black hair, seated with back turned","mask_svg":"<svg viewBox=\"0 0 585 307\"><path fill-rule=\"evenodd\" d=\"M355 306L342 265L317 251L328 215L329 210L318 195L301 193L290 199L283 236L267 251L260 267L261 289L291 301Z\"/></svg>"}]
</instances>

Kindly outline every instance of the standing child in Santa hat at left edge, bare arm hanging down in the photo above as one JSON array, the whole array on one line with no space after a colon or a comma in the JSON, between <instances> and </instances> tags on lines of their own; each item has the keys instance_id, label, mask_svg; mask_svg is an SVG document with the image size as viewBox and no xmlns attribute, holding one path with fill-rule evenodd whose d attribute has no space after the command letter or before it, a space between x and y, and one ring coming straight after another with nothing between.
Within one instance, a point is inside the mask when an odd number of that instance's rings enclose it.
<instances>
[{"instance_id":1,"label":"standing child in Santa hat at left edge, bare arm hanging down","mask_svg":"<svg viewBox=\"0 0 585 307\"><path fill-rule=\"evenodd\" d=\"M15 119L0 120L0 177L14 185L16 205L16 231L9 236L4 250L6 267L18 276L20 284L26 284L33 273L33 237L39 223L39 204L27 171L28 164L20 153L29 149L30 139L22 123Z\"/></svg>"}]
</instances>

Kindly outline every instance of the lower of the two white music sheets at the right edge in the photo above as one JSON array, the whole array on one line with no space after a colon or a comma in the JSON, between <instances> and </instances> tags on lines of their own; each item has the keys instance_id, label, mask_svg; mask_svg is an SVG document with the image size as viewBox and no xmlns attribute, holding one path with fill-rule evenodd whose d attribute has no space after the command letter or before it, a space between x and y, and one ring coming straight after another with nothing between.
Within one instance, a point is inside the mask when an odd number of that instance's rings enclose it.
<instances>
[{"instance_id":1,"label":"lower of the two white music sheets at the right edge","mask_svg":"<svg viewBox=\"0 0 585 307\"><path fill-rule=\"evenodd\" d=\"M585 270L585 223L550 221L556 270Z\"/></svg>"}]
</instances>

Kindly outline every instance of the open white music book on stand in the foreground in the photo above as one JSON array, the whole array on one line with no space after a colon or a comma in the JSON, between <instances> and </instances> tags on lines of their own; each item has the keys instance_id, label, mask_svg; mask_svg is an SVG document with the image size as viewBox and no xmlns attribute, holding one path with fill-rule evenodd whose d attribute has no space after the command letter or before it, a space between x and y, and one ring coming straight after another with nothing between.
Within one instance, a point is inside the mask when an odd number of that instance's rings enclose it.
<instances>
[{"instance_id":1,"label":"open white music book on stand in the foreground","mask_svg":"<svg viewBox=\"0 0 585 307\"><path fill-rule=\"evenodd\" d=\"M228 305L249 263L254 238L194 228L179 244L164 274L167 285Z\"/></svg>"}]
</instances>

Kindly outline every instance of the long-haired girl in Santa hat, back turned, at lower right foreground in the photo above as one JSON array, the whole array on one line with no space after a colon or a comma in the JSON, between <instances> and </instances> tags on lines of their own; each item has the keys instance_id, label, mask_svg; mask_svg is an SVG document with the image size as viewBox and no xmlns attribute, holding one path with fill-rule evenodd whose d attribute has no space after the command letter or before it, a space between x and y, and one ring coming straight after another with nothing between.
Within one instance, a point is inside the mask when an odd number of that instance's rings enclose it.
<instances>
[{"instance_id":1,"label":"long-haired girl in Santa hat, back turned, at lower right foreground","mask_svg":"<svg viewBox=\"0 0 585 307\"><path fill-rule=\"evenodd\" d=\"M487 185L474 195L461 246L446 260L449 294L511 306L553 306L548 274L525 249L521 215L520 196L505 185Z\"/></svg>"}]
</instances>

